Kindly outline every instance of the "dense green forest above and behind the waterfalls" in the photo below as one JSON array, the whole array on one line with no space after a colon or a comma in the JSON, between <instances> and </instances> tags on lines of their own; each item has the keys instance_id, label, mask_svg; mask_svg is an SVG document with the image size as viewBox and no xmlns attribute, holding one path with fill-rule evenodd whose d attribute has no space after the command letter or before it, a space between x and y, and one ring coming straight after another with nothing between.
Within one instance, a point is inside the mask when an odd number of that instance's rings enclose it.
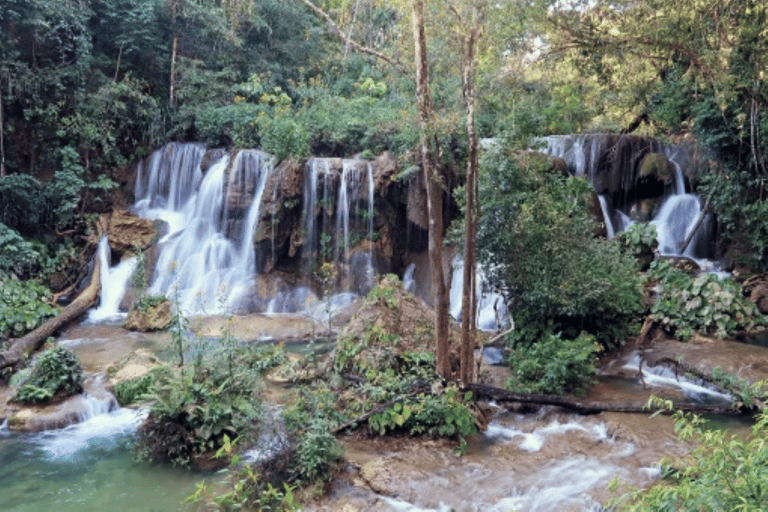
<instances>
[{"instance_id":1,"label":"dense green forest above and behind the waterfalls","mask_svg":"<svg viewBox=\"0 0 768 512\"><path fill-rule=\"evenodd\" d=\"M724 244L765 266L764 2L425 2L439 163L459 181L468 157L462 42L475 4L480 137L519 146L586 131L693 138L712 158L693 186ZM3 272L73 273L78 239L62 235L83 233L88 214L117 200L122 171L171 140L259 146L280 158L389 150L416 163L410 2L0 7Z\"/></svg>"}]
</instances>

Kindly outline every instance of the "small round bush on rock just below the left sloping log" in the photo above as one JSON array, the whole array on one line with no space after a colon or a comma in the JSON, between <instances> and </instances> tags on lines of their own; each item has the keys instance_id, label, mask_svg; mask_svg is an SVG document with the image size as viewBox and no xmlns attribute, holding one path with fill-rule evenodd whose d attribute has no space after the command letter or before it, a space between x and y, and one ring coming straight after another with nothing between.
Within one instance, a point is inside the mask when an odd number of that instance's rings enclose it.
<instances>
[{"instance_id":1,"label":"small round bush on rock just below the left sloping log","mask_svg":"<svg viewBox=\"0 0 768 512\"><path fill-rule=\"evenodd\" d=\"M72 395L82 390L83 368L69 349L56 347L42 352L16 395L15 402L44 403L58 393Z\"/></svg>"}]
</instances>

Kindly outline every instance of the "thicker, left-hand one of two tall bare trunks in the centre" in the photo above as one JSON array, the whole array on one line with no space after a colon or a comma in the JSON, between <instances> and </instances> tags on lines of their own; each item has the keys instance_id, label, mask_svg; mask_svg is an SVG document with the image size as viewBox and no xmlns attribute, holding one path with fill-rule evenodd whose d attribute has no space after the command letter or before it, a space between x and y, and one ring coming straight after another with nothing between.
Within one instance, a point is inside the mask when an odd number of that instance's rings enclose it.
<instances>
[{"instance_id":1,"label":"thicker, left-hand one of two tall bare trunks in the centre","mask_svg":"<svg viewBox=\"0 0 768 512\"><path fill-rule=\"evenodd\" d=\"M451 377L451 362L448 350L448 289L443 272L443 187L435 164L435 149L430 146L431 141L434 140L432 137L434 111L429 93L427 40L424 33L424 2L423 0L413 0L411 7L416 65L416 107L419 111L419 153L427 189L429 261L432 287L435 292L435 352L437 371L443 378L448 379Z\"/></svg>"}]
</instances>

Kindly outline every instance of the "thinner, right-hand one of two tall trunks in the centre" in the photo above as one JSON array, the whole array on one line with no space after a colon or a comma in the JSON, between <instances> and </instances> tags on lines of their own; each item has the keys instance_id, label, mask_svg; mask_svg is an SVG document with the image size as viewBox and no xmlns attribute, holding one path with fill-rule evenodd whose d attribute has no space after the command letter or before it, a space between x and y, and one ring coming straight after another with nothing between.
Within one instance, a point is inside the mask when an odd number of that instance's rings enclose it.
<instances>
[{"instance_id":1,"label":"thinner, right-hand one of two tall trunks in the centre","mask_svg":"<svg viewBox=\"0 0 768 512\"><path fill-rule=\"evenodd\" d=\"M466 212L464 217L464 287L462 289L461 309L461 348L459 378L466 383L474 380L475 339L477 295L475 280L477 278L476 259L476 229L477 214L475 192L477 190L478 143L475 130L475 68L477 64L477 43L480 39L480 25L484 2L472 5L472 21L464 36L464 69L462 81L464 85L464 104L467 111L467 136L469 139L469 155L467 159Z\"/></svg>"}]
</instances>

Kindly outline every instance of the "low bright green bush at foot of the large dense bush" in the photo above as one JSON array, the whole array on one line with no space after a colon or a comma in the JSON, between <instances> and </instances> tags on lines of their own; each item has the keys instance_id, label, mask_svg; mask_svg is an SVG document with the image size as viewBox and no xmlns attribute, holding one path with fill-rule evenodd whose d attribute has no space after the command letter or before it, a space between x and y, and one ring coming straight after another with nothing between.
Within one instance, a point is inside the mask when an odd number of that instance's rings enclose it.
<instances>
[{"instance_id":1,"label":"low bright green bush at foot of the large dense bush","mask_svg":"<svg viewBox=\"0 0 768 512\"><path fill-rule=\"evenodd\" d=\"M550 334L510 353L514 376L507 381L507 388L520 393L582 393L595 375L598 352L599 345L590 335L568 340Z\"/></svg>"}]
</instances>

